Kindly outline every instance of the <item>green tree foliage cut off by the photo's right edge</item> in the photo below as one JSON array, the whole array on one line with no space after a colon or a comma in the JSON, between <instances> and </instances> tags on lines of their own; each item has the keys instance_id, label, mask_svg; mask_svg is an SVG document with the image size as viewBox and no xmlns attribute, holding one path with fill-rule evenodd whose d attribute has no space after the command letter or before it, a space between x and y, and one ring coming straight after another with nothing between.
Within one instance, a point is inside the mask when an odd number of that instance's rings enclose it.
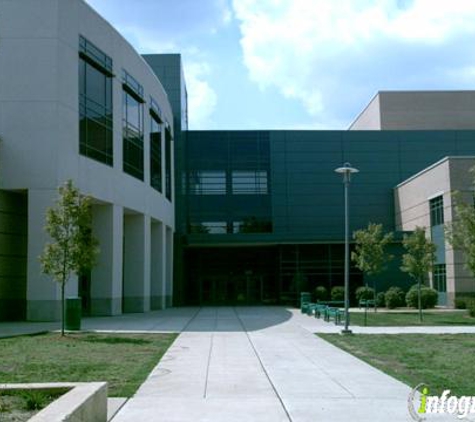
<instances>
[{"instance_id":1,"label":"green tree foliage cut off by the photo's right edge","mask_svg":"<svg viewBox=\"0 0 475 422\"><path fill-rule=\"evenodd\" d=\"M471 170L475 173L475 167ZM475 186L475 180L473 185ZM455 215L453 221L445 226L447 241L454 249L462 251L465 268L475 277L475 207L473 193L470 200L464 200L460 192L452 194Z\"/></svg>"}]
</instances>

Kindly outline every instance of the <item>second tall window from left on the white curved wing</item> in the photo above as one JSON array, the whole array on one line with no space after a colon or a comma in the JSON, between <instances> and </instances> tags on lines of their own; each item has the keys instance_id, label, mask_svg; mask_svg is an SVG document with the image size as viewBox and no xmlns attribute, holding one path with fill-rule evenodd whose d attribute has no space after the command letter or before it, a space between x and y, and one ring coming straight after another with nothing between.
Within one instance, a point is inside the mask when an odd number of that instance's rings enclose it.
<instances>
[{"instance_id":1,"label":"second tall window from left on the white curved wing","mask_svg":"<svg viewBox=\"0 0 475 422\"><path fill-rule=\"evenodd\" d=\"M124 172L143 180L143 88L125 71L122 82Z\"/></svg>"}]
</instances>

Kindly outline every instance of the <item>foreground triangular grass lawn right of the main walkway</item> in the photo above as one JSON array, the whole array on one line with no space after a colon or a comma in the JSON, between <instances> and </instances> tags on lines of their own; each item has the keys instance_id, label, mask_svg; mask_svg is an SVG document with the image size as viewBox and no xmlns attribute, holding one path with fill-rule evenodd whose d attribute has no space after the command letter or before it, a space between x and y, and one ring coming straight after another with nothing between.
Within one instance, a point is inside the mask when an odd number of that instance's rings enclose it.
<instances>
[{"instance_id":1,"label":"foreground triangular grass lawn right of the main walkway","mask_svg":"<svg viewBox=\"0 0 475 422\"><path fill-rule=\"evenodd\" d=\"M475 396L475 334L319 334L411 387Z\"/></svg>"}]
</instances>

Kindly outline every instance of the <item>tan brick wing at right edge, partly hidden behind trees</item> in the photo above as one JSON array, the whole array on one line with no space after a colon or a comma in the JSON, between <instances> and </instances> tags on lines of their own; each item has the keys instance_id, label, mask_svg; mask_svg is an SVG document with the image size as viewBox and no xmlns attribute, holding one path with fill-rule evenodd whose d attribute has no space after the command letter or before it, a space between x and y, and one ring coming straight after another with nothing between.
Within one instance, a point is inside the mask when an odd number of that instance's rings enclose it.
<instances>
[{"instance_id":1,"label":"tan brick wing at right edge, partly hidden behind trees","mask_svg":"<svg viewBox=\"0 0 475 422\"><path fill-rule=\"evenodd\" d=\"M444 227L455 218L453 193L473 203L475 157L445 157L396 186L396 230L426 227L437 246L431 286L439 292L439 303L451 304L456 294L472 294L475 280L464 267L464 257L447 242Z\"/></svg>"}]
</instances>

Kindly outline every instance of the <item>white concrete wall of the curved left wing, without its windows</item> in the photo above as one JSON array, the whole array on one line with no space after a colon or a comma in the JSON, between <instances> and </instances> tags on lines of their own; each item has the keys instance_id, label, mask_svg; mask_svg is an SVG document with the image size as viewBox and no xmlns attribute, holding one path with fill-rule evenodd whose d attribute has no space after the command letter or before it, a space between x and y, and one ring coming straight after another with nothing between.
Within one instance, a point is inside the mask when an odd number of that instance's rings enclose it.
<instances>
[{"instance_id":1,"label":"white concrete wall of the curved left wing, without its windows","mask_svg":"<svg viewBox=\"0 0 475 422\"><path fill-rule=\"evenodd\" d=\"M28 317L49 320L59 315L57 286L41 275L37 257L46 241L45 209L67 179L98 205L94 230L103 255L92 273L93 312L121 312L124 209L141 215L148 225L143 233L148 262L143 280L138 280L147 310L150 221L160 221L171 231L175 226L173 203L150 187L149 175L150 97L173 125L168 97L140 55L83 0L0 0L0 12L0 189L29 191ZM113 167L79 155L79 35L113 60ZM122 69L140 82L147 101L143 182L122 171Z\"/></svg>"}]
</instances>

